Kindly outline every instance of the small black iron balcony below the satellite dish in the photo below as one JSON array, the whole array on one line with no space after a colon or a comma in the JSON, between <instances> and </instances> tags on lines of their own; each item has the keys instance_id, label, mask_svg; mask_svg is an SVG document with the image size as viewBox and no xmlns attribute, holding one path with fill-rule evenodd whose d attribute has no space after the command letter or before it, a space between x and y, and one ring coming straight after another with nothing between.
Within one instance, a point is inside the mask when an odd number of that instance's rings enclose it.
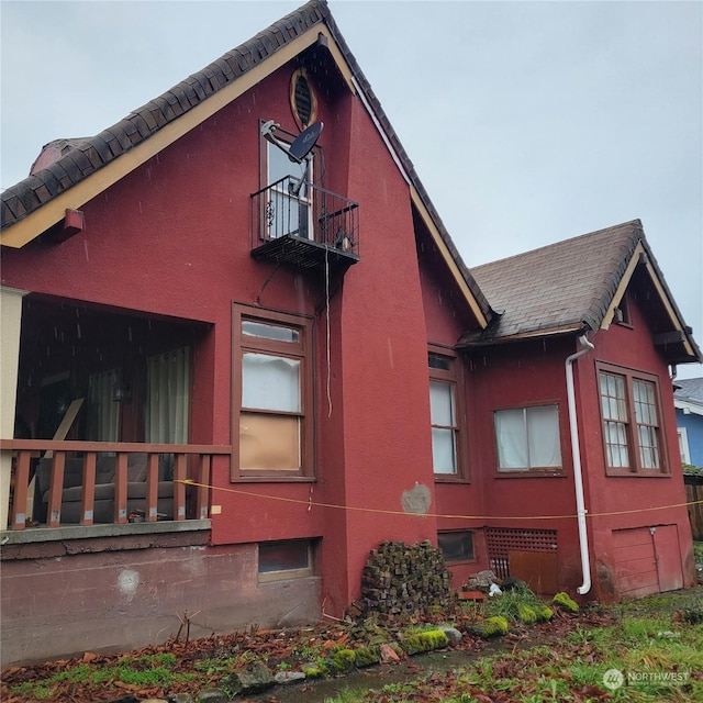
<instances>
[{"instance_id":1,"label":"small black iron balcony below the satellite dish","mask_svg":"<svg viewBox=\"0 0 703 703\"><path fill-rule=\"evenodd\" d=\"M252 255L305 269L359 260L359 203L287 176L252 196Z\"/></svg>"}]
</instances>

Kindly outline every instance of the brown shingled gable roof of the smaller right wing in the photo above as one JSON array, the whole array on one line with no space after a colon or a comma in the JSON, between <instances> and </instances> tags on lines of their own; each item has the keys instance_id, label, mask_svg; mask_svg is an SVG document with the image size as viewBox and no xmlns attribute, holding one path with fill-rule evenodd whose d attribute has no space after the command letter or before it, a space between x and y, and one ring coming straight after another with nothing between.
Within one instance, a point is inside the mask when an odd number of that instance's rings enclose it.
<instances>
[{"instance_id":1,"label":"brown shingled gable roof of the smaller right wing","mask_svg":"<svg viewBox=\"0 0 703 703\"><path fill-rule=\"evenodd\" d=\"M633 220L471 269L498 317L462 346L606 330L632 282L655 290L655 343L670 362L701 360L692 331Z\"/></svg>"}]
</instances>

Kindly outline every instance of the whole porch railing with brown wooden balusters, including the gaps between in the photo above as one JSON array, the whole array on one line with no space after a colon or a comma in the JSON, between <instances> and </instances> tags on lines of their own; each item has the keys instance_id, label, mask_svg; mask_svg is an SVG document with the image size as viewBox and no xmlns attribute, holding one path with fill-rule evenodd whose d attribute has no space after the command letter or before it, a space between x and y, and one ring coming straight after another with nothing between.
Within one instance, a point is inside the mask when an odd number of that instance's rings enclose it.
<instances>
[{"instance_id":1,"label":"whole porch railing with brown wooden balusters, including the gaps between","mask_svg":"<svg viewBox=\"0 0 703 703\"><path fill-rule=\"evenodd\" d=\"M38 439L1 439L0 449L13 454L11 529L207 518L213 462L226 464L228 476L232 451L212 445Z\"/></svg>"}]
</instances>

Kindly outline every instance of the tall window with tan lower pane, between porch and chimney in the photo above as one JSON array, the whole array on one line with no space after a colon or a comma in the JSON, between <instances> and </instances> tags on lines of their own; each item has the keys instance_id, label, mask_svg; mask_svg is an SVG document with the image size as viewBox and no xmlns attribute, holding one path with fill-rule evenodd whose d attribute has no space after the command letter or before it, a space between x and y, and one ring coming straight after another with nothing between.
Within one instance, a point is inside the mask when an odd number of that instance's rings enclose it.
<instances>
[{"instance_id":1,"label":"tall window with tan lower pane, between porch and chimney","mask_svg":"<svg viewBox=\"0 0 703 703\"><path fill-rule=\"evenodd\" d=\"M234 308L233 479L312 476L311 321Z\"/></svg>"}]
</instances>

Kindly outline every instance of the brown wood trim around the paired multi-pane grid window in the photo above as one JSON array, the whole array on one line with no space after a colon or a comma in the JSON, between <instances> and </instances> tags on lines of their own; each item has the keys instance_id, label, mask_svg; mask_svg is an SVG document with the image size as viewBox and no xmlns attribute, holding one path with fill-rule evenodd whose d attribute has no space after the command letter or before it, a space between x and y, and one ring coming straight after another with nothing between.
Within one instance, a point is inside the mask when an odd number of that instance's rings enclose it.
<instances>
[{"instance_id":1,"label":"brown wood trim around the paired multi-pane grid window","mask_svg":"<svg viewBox=\"0 0 703 703\"><path fill-rule=\"evenodd\" d=\"M624 366L617 366L615 364L606 364L604 361L595 362L596 371L596 388L599 414L601 419L601 435L603 445L603 465L605 467L605 475L612 477L635 477L635 478L670 478L671 468L669 465L669 453L667 450L667 438L663 429L663 413L661 404L661 387L659 383L659 377L654 373L647 373L646 371L638 371ZM627 408L627 448L629 451L629 464L627 468L611 467L607 461L607 437L605 432L605 420L603 417L603 403L601 399L601 373L610 373L612 376L622 377L625 381L625 403ZM641 466L641 457L639 450L639 440L637 437L637 423L635 420L635 399L633 392L633 381L646 381L654 386L655 389L655 408L657 411L657 440L659 450L659 468L644 468Z\"/></svg>"}]
</instances>

